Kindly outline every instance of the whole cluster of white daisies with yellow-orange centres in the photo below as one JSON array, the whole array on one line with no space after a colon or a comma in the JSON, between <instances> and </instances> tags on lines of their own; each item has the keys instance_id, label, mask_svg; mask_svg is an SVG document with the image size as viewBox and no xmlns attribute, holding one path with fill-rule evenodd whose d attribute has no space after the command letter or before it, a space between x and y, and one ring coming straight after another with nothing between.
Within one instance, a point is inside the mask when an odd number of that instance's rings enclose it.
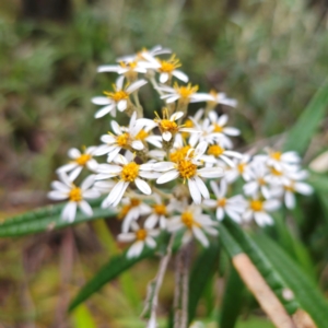
<instances>
[{"instance_id":1,"label":"whole cluster of white daisies with yellow-orange centres","mask_svg":"<svg viewBox=\"0 0 328 328\"><path fill-rule=\"evenodd\" d=\"M98 72L118 77L112 90L92 98L102 106L95 118L119 110L129 122L112 119L101 144L69 150L71 161L57 169L60 181L48 195L68 200L62 219L70 222L78 207L92 215L86 200L103 197L102 207L115 208L122 222L118 241L132 243L128 257L154 248L161 231L183 231L185 243L195 237L207 247L225 216L272 224L270 212L283 202L294 208L296 192L312 192L295 152L266 149L251 156L233 150L241 131L229 126L226 113L237 102L216 91L198 92L180 67L176 55L160 46L101 66ZM147 85L163 102L154 117L143 116L139 98ZM194 115L190 103L200 103ZM78 187L74 181L89 173Z\"/></svg>"}]
</instances>

